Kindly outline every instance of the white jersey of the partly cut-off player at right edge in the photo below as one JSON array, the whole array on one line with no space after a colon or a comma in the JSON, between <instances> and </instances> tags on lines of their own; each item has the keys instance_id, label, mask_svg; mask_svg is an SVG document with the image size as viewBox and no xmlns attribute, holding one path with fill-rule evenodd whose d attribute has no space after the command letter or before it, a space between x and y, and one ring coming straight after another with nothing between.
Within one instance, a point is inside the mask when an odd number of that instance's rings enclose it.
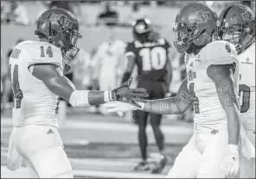
<instances>
[{"instance_id":1,"label":"white jersey of the partly cut-off player at right edge","mask_svg":"<svg viewBox=\"0 0 256 179\"><path fill-rule=\"evenodd\" d=\"M255 43L240 53L240 116L245 129L255 130Z\"/></svg>"}]
</instances>

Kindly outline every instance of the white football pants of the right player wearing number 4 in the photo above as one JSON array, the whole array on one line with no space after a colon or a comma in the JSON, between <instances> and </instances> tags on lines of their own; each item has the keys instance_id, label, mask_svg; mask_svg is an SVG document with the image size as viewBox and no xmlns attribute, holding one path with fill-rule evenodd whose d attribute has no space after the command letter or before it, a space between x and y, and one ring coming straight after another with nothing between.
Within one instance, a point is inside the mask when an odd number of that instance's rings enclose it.
<instances>
[{"instance_id":1,"label":"white football pants of the right player wearing number 4","mask_svg":"<svg viewBox=\"0 0 256 179\"><path fill-rule=\"evenodd\" d=\"M227 150L227 125L197 125L176 157L167 178L224 178L221 162Z\"/></svg>"}]
</instances>

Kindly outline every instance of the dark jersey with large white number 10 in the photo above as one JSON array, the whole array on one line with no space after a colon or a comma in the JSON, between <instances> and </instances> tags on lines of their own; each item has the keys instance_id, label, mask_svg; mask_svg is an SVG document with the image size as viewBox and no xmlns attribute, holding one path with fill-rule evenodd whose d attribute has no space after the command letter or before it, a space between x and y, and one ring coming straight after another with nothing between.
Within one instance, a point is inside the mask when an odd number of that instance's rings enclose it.
<instances>
[{"instance_id":1,"label":"dark jersey with large white number 10","mask_svg":"<svg viewBox=\"0 0 256 179\"><path fill-rule=\"evenodd\" d=\"M138 79L151 81L164 81L167 74L166 64L170 44L162 39L156 42L140 43L134 40L128 43L125 54L133 55L138 65Z\"/></svg>"}]
</instances>

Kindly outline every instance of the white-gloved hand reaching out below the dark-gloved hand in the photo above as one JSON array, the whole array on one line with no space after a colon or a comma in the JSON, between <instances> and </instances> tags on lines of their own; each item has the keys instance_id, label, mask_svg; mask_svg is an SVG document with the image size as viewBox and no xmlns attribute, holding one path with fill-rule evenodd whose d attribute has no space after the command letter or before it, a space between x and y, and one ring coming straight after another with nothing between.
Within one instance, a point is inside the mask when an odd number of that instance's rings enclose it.
<instances>
[{"instance_id":1,"label":"white-gloved hand reaching out below the dark-gloved hand","mask_svg":"<svg viewBox=\"0 0 256 179\"><path fill-rule=\"evenodd\" d=\"M107 102L103 106L107 108L108 113L134 111L138 109L127 102Z\"/></svg>"}]
</instances>

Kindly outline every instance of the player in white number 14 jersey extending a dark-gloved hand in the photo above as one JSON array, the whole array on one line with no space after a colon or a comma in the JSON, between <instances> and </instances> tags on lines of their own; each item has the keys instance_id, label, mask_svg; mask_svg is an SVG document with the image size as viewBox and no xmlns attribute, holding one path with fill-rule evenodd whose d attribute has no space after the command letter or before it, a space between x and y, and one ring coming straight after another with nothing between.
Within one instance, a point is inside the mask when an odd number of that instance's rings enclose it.
<instances>
[{"instance_id":1,"label":"player in white number 14 jersey extending a dark-gloved hand","mask_svg":"<svg viewBox=\"0 0 256 179\"><path fill-rule=\"evenodd\" d=\"M76 17L65 9L48 9L39 17L38 41L23 41L10 55L14 92L13 130L10 134L8 168L16 170L22 159L32 177L74 177L58 133L58 97L74 107L125 100L136 105L146 97L144 89L130 89L131 80L116 90L76 90L63 76L66 52L79 52L81 37ZM143 100L144 102L144 100Z\"/></svg>"}]
</instances>

